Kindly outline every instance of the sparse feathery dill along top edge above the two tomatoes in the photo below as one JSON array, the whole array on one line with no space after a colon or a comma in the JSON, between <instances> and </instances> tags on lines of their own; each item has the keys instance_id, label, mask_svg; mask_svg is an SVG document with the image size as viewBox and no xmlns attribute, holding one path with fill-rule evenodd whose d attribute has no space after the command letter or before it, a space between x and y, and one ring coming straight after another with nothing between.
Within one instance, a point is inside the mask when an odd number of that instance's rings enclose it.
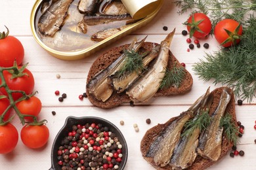
<instances>
[{"instance_id":1,"label":"sparse feathery dill along top edge above the two tomatoes","mask_svg":"<svg viewBox=\"0 0 256 170\"><path fill-rule=\"evenodd\" d=\"M178 11L179 14L188 10L192 10L192 13L203 12L209 14L213 29L224 18L230 18L243 24L246 14L256 10L256 0L178 0L174 3L181 8Z\"/></svg>"}]
</instances>

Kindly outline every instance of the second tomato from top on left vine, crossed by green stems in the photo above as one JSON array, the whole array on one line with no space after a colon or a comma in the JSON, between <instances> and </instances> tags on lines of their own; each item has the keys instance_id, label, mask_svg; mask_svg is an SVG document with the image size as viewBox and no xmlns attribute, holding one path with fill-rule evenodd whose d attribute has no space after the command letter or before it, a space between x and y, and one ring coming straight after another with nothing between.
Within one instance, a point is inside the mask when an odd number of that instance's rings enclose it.
<instances>
[{"instance_id":1,"label":"second tomato from top on left vine, crossed by green stems","mask_svg":"<svg viewBox=\"0 0 256 170\"><path fill-rule=\"evenodd\" d=\"M5 77L7 86L9 86L11 90L22 90L26 94L31 94L33 92L33 87L35 85L33 75L28 69L24 69L23 73L26 73L27 75L12 78L12 74L9 71L5 70L3 71L3 76ZM2 82L0 79L0 84L1 83ZM7 95L5 88L0 88L0 92L2 92L3 95ZM18 98L22 97L22 93L12 93L12 97L14 100L17 100Z\"/></svg>"}]
</instances>

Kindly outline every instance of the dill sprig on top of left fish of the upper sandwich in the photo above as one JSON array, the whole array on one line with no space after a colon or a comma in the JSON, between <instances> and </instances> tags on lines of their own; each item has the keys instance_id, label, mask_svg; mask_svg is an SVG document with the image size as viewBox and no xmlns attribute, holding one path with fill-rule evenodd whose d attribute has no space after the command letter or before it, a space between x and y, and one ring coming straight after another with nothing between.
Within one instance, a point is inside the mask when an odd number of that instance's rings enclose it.
<instances>
[{"instance_id":1,"label":"dill sprig on top of left fish of the upper sandwich","mask_svg":"<svg viewBox=\"0 0 256 170\"><path fill-rule=\"evenodd\" d=\"M117 78L121 78L123 75L132 73L133 71L139 73L140 71L146 69L143 65L143 58L147 55L147 53L139 54L134 50L125 50L124 53L127 55L127 57L125 58L124 65L115 74Z\"/></svg>"}]
</instances>

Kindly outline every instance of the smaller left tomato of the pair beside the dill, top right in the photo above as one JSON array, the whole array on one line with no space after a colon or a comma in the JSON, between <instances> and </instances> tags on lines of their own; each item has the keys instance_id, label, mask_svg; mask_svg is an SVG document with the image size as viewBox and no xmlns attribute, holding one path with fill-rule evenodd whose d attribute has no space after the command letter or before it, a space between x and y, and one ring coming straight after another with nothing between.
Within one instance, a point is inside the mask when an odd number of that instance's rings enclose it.
<instances>
[{"instance_id":1,"label":"smaller left tomato of the pair beside the dill, top right","mask_svg":"<svg viewBox=\"0 0 256 170\"><path fill-rule=\"evenodd\" d=\"M194 36L196 39L202 39L210 33L211 21L205 14L195 13L188 18L187 29L190 32L190 38Z\"/></svg>"}]
</instances>

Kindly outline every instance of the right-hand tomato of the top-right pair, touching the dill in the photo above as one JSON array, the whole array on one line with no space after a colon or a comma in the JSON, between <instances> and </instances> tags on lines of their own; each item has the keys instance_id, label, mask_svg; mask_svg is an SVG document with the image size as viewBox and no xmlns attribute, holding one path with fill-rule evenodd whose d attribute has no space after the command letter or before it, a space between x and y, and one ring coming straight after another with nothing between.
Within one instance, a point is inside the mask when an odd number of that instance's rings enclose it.
<instances>
[{"instance_id":1,"label":"right-hand tomato of the top-right pair, touching the dill","mask_svg":"<svg viewBox=\"0 0 256 170\"><path fill-rule=\"evenodd\" d=\"M216 40L224 47L234 45L235 42L240 42L240 36L242 35L242 25L238 28L239 23L232 19L221 20L214 29L214 35ZM236 28L238 28L236 30ZM225 31L230 31L230 35ZM225 42L226 41L226 42ZM223 44L224 43L224 44Z\"/></svg>"}]
</instances>

